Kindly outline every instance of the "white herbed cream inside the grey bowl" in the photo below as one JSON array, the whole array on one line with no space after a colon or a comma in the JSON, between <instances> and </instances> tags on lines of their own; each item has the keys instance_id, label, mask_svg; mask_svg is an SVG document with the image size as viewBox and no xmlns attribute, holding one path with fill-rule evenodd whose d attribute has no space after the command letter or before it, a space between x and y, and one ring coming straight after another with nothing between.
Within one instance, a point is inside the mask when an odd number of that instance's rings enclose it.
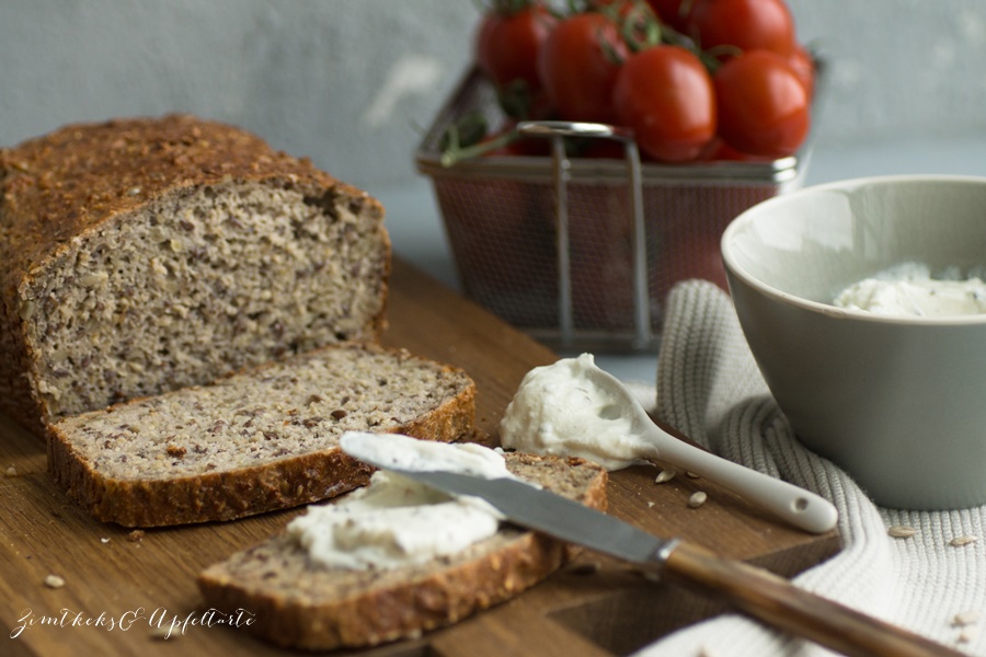
<instances>
[{"instance_id":1,"label":"white herbed cream inside the grey bowl","mask_svg":"<svg viewBox=\"0 0 986 657\"><path fill-rule=\"evenodd\" d=\"M839 308L894 316L956 316L986 313L986 283L950 268L932 276L920 263L903 263L839 292Z\"/></svg>"}]
</instances>

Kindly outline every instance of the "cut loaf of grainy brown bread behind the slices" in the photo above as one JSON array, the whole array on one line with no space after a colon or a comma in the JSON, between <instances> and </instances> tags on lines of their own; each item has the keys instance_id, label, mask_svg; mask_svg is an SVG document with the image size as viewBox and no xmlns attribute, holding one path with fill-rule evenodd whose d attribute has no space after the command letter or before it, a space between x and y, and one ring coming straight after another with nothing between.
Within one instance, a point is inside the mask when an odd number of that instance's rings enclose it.
<instances>
[{"instance_id":1,"label":"cut loaf of grainy brown bread behind the slices","mask_svg":"<svg viewBox=\"0 0 986 657\"><path fill-rule=\"evenodd\" d=\"M365 193L190 116L0 150L0 407L30 430L376 338L390 242Z\"/></svg>"}]
</instances>

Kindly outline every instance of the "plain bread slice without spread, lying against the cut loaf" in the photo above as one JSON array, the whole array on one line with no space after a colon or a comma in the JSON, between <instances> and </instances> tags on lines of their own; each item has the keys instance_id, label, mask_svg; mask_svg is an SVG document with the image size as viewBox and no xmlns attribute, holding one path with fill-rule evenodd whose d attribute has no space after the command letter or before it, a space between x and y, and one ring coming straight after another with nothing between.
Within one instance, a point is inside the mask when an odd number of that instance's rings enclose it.
<instances>
[{"instance_id":1,"label":"plain bread slice without spread, lying against the cut loaf","mask_svg":"<svg viewBox=\"0 0 986 657\"><path fill-rule=\"evenodd\" d=\"M445 442L469 437L466 372L376 346L333 346L204 387L62 419L49 469L100 520L154 527L230 520L364 485L347 430Z\"/></svg>"}]
</instances>

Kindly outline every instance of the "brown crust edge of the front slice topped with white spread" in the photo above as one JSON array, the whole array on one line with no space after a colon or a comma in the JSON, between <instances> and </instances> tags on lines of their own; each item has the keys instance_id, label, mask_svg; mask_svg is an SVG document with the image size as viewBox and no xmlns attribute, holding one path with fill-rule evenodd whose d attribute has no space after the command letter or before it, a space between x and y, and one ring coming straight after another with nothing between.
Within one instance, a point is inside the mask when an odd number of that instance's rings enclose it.
<instances>
[{"instance_id":1,"label":"brown crust edge of the front slice topped with white spread","mask_svg":"<svg viewBox=\"0 0 986 657\"><path fill-rule=\"evenodd\" d=\"M530 465L563 461L567 466L593 469L595 476L580 502L605 510L608 474L595 463L531 454L506 457L508 466L512 462ZM291 549L290 540L279 534L237 556L255 558L264 549ZM265 590L262 581L232 576L225 563L204 570L197 583L209 606L249 610L254 622L244 629L260 638L285 647L325 650L413 638L456 623L530 588L577 552L561 541L512 527L470 551L447 565L432 565L404 578L398 576L398 581L387 580L324 600Z\"/></svg>"}]
</instances>

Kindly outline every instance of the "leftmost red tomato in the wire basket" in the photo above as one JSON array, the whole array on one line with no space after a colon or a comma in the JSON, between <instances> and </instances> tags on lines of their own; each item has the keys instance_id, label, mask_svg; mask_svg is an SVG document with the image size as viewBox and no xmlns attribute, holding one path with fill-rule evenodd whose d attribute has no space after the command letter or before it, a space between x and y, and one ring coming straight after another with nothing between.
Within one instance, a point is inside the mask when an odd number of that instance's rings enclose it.
<instances>
[{"instance_id":1,"label":"leftmost red tomato in the wire basket","mask_svg":"<svg viewBox=\"0 0 986 657\"><path fill-rule=\"evenodd\" d=\"M524 80L529 91L537 91L541 88L538 51L555 23L558 19L540 2L513 13L486 13L475 37L480 68L500 87Z\"/></svg>"}]
</instances>

